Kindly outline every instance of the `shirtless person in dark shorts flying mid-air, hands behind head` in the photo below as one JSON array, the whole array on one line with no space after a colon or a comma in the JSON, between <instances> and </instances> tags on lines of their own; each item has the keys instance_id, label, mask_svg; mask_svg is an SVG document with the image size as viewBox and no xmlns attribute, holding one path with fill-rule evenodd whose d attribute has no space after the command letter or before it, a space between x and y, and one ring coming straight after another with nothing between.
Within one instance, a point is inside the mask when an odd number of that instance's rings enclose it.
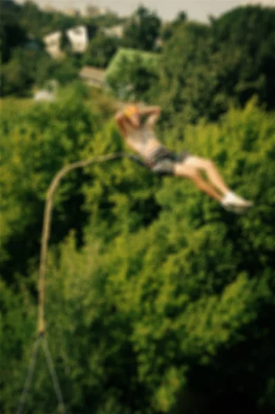
<instances>
[{"instance_id":1,"label":"shirtless person in dark shorts flying mid-air, hands behind head","mask_svg":"<svg viewBox=\"0 0 275 414\"><path fill-rule=\"evenodd\" d=\"M159 106L140 108L135 105L117 112L115 120L129 148L137 152L153 172L190 179L200 191L216 199L227 210L244 213L251 207L252 201L243 199L227 187L213 161L188 151L176 155L161 144L154 132L160 112ZM201 172L205 172L208 181Z\"/></svg>"}]
</instances>

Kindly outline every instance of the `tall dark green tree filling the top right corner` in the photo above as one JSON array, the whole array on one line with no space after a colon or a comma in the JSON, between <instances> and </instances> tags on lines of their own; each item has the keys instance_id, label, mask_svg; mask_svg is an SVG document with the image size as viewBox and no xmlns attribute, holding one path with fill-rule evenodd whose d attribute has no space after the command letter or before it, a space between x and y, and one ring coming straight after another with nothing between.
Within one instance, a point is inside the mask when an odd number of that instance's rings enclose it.
<instances>
[{"instance_id":1,"label":"tall dark green tree filling the top right corner","mask_svg":"<svg viewBox=\"0 0 275 414\"><path fill-rule=\"evenodd\" d=\"M214 48L220 52L221 59L225 62L223 68L220 68L220 82L225 83L227 95L236 95L241 105L256 94L267 108L275 107L272 92L275 90L272 76L275 69L274 31L274 8L260 6L236 8L222 15L220 19L212 20ZM236 50L234 57L233 49ZM227 74L229 78L227 83L225 70L228 61L231 65Z\"/></svg>"}]
</instances>

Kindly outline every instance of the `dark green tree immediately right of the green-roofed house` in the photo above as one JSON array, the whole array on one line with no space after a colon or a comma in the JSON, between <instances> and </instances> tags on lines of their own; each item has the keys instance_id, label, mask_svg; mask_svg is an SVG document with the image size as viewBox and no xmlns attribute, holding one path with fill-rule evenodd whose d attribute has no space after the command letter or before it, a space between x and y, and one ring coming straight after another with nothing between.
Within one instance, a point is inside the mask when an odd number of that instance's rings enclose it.
<instances>
[{"instance_id":1,"label":"dark green tree immediately right of the green-roofed house","mask_svg":"<svg viewBox=\"0 0 275 414\"><path fill-rule=\"evenodd\" d=\"M179 113L181 122L184 123L184 121L197 119L193 112L198 112L200 108L206 110L200 102L199 106L196 106L193 96L196 96L197 103L198 92L201 92L200 98L202 99L204 88L213 88L213 81L205 85L205 83L202 83L202 79L197 77L198 71L204 77L207 77L204 65L209 53L208 39L209 27L207 25L187 22L178 26L173 37L167 43L164 43L158 71L159 80L153 83L149 93L151 101L158 101L162 106L164 110L162 119L170 119L171 124L173 124L171 117L175 113ZM195 87L194 90L192 89L193 86ZM205 95L207 99L209 95L212 99L211 93ZM213 104L211 103L211 106L208 106L207 109L212 110L212 108ZM182 111L184 111L183 116ZM178 121L175 121L175 123L177 124Z\"/></svg>"}]
</instances>

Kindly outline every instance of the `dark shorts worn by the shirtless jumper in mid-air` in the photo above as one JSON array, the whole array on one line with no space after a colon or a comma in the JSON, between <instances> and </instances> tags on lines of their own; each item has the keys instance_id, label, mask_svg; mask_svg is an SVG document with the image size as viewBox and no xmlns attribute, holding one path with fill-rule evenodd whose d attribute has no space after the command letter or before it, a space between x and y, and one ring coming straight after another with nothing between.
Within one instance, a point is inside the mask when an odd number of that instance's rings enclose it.
<instances>
[{"instance_id":1,"label":"dark shorts worn by the shirtless jumper in mid-air","mask_svg":"<svg viewBox=\"0 0 275 414\"><path fill-rule=\"evenodd\" d=\"M149 166L155 174L158 175L174 175L175 165L183 162L190 153L184 150L180 154L176 154L166 147L160 147L149 157Z\"/></svg>"}]
</instances>

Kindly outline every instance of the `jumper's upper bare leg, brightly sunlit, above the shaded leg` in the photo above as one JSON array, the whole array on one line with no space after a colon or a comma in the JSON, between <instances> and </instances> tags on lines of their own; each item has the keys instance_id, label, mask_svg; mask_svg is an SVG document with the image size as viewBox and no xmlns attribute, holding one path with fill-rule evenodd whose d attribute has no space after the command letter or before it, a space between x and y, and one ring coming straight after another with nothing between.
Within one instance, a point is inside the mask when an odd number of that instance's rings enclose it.
<instances>
[{"instance_id":1,"label":"jumper's upper bare leg, brightly sunlit, above the shaded leg","mask_svg":"<svg viewBox=\"0 0 275 414\"><path fill-rule=\"evenodd\" d=\"M186 161L184 161L183 164L184 166L190 166L204 171L211 184L213 184L216 189L222 193L222 195L229 193L229 188L225 184L225 181L222 179L220 172L218 172L218 169L216 168L214 162L212 162L210 159L190 156L186 159Z\"/></svg>"}]
</instances>

